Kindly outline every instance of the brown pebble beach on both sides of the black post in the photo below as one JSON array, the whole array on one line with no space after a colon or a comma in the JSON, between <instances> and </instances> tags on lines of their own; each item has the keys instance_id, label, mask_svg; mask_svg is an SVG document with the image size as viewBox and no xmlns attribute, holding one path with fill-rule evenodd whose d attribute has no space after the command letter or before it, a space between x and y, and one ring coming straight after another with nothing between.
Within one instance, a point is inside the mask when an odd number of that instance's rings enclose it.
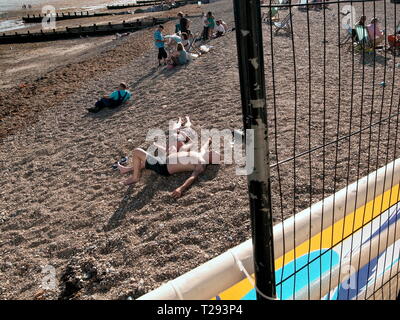
<instances>
[{"instance_id":1,"label":"brown pebble beach on both sides of the black post","mask_svg":"<svg viewBox=\"0 0 400 320\"><path fill-rule=\"evenodd\" d=\"M180 10L213 11L234 26L229 0ZM284 32L273 36L263 24L273 165L399 108L398 59L383 51L362 59L339 48L345 32L336 5L325 15L293 10L293 40ZM373 11L366 14L383 17L383 6ZM387 12L387 29L393 16ZM201 19L192 21L200 31ZM166 33L174 25L167 23ZM235 32L211 40L208 54L174 70L157 67L153 32L0 46L0 299L136 299L250 238L246 177L236 176L234 165L210 167L178 200L171 192L187 174L147 172L127 188L111 169L135 147L148 146L150 128L167 130L179 116L190 115L200 128L243 127ZM86 108L120 81L128 83L132 101L88 115ZM379 86L382 81L387 85ZM274 222L398 157L397 131L394 118L337 148L274 166ZM382 154L388 146L390 153ZM44 291L47 265L58 284Z\"/></svg>"}]
</instances>

